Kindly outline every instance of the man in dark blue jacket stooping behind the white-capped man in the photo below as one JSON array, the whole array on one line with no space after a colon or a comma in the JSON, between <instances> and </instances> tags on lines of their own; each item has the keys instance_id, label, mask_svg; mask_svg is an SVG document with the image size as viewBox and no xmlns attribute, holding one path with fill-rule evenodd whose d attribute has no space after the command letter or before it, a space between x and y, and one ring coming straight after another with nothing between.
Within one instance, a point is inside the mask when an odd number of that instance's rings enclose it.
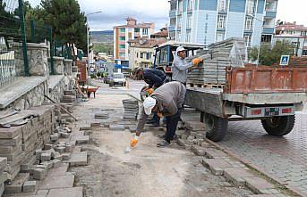
<instances>
[{"instance_id":1,"label":"man in dark blue jacket stooping behind the white-capped man","mask_svg":"<svg viewBox=\"0 0 307 197\"><path fill-rule=\"evenodd\" d=\"M149 95L154 92L159 86L162 86L166 82L168 82L166 73L161 70L156 69L146 69L143 72L142 78L149 85L149 87L145 90ZM153 118L149 121L152 125L150 127L159 127L160 126L160 118L158 117L157 112L154 113Z\"/></svg>"}]
</instances>

